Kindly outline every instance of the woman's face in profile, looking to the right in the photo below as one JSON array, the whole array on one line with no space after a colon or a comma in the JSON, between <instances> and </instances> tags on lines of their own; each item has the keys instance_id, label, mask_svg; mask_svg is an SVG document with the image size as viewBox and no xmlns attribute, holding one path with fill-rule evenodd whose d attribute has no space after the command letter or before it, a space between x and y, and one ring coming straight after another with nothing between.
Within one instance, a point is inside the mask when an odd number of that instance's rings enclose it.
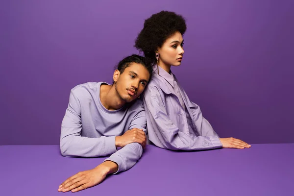
<instances>
[{"instance_id":1,"label":"woman's face in profile, looking to the right","mask_svg":"<svg viewBox=\"0 0 294 196\"><path fill-rule=\"evenodd\" d=\"M179 66L181 65L184 49L183 37L180 32L175 32L158 48L159 65L163 66Z\"/></svg>"}]
</instances>

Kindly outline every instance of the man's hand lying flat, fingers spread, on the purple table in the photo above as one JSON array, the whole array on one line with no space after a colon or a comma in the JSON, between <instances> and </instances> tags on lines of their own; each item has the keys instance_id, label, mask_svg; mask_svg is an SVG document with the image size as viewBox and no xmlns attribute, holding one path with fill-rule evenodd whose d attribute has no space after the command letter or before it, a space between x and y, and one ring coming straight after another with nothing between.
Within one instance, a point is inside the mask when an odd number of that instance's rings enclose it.
<instances>
[{"instance_id":1,"label":"man's hand lying flat, fingers spread, on the purple table","mask_svg":"<svg viewBox=\"0 0 294 196\"><path fill-rule=\"evenodd\" d=\"M78 172L69 177L60 186L59 192L77 192L101 183L107 174L118 171L118 165L112 161L105 161L92 170Z\"/></svg>"}]
</instances>

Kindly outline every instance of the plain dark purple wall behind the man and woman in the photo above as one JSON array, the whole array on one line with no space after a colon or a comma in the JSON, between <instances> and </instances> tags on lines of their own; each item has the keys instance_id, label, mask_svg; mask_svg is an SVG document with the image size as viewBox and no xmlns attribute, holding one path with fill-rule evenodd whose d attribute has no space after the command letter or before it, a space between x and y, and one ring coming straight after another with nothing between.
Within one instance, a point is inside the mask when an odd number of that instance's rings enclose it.
<instances>
[{"instance_id":1,"label":"plain dark purple wall behind the man and woman","mask_svg":"<svg viewBox=\"0 0 294 196\"><path fill-rule=\"evenodd\" d=\"M294 143L292 0L2 0L0 145L57 145L71 88L112 81L144 20L182 14L173 72L221 137Z\"/></svg>"}]
</instances>

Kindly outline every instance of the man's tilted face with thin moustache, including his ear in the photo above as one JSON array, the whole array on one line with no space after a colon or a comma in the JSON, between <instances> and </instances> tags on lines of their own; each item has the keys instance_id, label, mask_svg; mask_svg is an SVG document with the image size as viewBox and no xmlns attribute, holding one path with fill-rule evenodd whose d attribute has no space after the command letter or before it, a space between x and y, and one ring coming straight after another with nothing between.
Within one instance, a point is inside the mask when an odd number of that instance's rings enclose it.
<instances>
[{"instance_id":1,"label":"man's tilted face with thin moustache, including his ear","mask_svg":"<svg viewBox=\"0 0 294 196\"><path fill-rule=\"evenodd\" d=\"M117 77L116 72L114 74L116 91L125 102L131 102L138 98L144 91L150 77L148 70L138 63L131 63L123 73L118 72Z\"/></svg>"}]
</instances>

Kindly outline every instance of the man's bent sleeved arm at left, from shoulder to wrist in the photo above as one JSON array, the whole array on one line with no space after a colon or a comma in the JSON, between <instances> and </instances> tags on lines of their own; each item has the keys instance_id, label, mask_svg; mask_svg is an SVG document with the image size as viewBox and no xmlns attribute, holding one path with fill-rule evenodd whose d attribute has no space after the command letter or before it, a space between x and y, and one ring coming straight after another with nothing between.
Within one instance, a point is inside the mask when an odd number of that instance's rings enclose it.
<instances>
[{"instance_id":1,"label":"man's bent sleeved arm at left, from shoulder to wrist","mask_svg":"<svg viewBox=\"0 0 294 196\"><path fill-rule=\"evenodd\" d=\"M82 137L81 129L81 105L72 90L69 105L61 124L61 154L63 156L98 157L117 151L115 136Z\"/></svg>"}]
</instances>

